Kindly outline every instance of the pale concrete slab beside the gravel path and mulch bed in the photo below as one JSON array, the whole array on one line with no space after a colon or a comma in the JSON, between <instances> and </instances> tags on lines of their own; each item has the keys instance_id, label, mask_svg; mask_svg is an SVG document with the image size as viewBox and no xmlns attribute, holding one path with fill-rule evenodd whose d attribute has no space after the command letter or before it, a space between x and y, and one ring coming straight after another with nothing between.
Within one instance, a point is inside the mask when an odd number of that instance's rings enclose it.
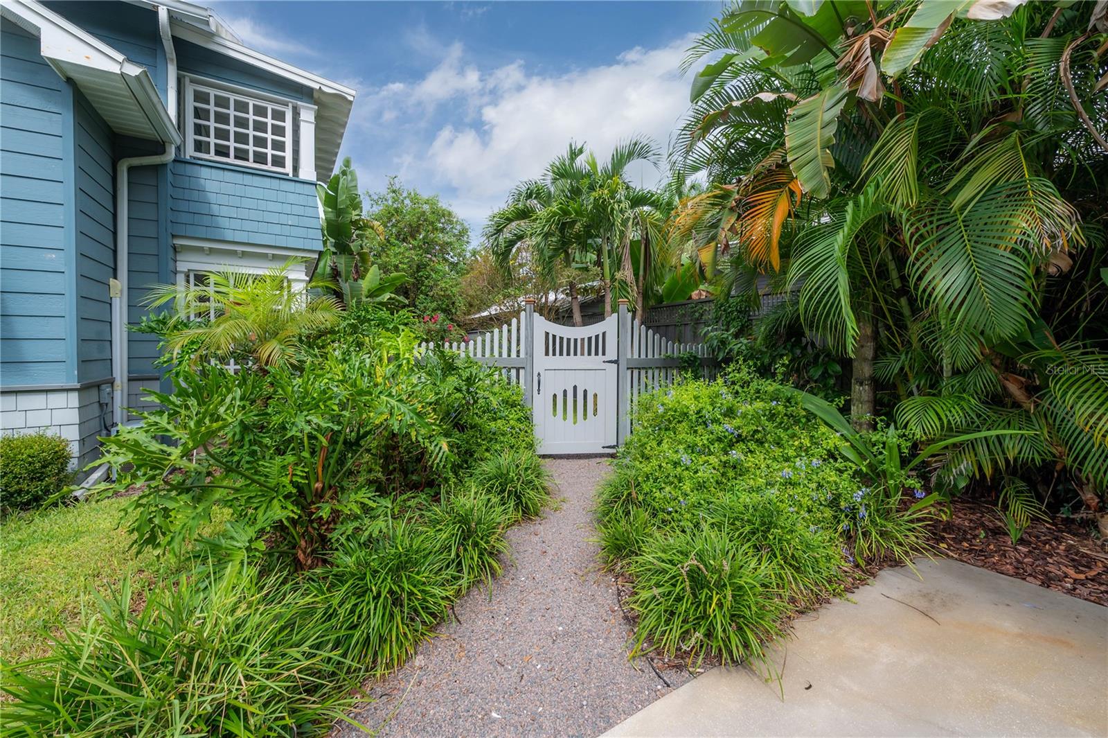
<instances>
[{"instance_id":1,"label":"pale concrete slab beside the gravel path and mulch bed","mask_svg":"<svg viewBox=\"0 0 1108 738\"><path fill-rule=\"evenodd\" d=\"M604 735L1108 736L1108 608L917 567L801 618L773 656L780 685L718 668Z\"/></svg>"}]
</instances>

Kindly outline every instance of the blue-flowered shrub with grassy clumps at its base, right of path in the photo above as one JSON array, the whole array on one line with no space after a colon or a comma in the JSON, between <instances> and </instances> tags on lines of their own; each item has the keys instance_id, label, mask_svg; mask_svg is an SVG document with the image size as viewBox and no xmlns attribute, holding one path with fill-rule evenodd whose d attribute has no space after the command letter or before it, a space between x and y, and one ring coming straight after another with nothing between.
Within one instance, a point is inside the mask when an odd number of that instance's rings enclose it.
<instances>
[{"instance_id":1,"label":"blue-flowered shrub with grassy clumps at its base, right of path","mask_svg":"<svg viewBox=\"0 0 1108 738\"><path fill-rule=\"evenodd\" d=\"M856 556L891 539L919 551L899 498L841 448L794 390L741 367L642 397L599 504L602 550L636 581L639 643L757 659L751 644L780 632L767 617L840 591Z\"/></svg>"}]
</instances>

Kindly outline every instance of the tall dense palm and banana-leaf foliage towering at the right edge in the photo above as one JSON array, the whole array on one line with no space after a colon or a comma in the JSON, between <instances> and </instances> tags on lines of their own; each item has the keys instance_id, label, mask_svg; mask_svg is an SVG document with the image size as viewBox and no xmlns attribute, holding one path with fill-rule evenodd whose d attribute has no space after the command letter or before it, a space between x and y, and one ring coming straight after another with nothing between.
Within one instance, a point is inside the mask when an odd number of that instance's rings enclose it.
<instances>
[{"instance_id":1,"label":"tall dense palm and banana-leaf foliage towering at the right edge","mask_svg":"<svg viewBox=\"0 0 1108 738\"><path fill-rule=\"evenodd\" d=\"M961 444L944 469L1051 462L1090 501L1108 485L1106 335L1090 321L1106 307L1091 121L1108 120L1094 94L1108 19L1019 4L730 7L685 62L716 59L675 152L712 184L680 227L732 278L799 287L804 328L853 359L856 427L883 386L921 439L1029 431ZM1076 301L1059 310L1056 294Z\"/></svg>"}]
</instances>

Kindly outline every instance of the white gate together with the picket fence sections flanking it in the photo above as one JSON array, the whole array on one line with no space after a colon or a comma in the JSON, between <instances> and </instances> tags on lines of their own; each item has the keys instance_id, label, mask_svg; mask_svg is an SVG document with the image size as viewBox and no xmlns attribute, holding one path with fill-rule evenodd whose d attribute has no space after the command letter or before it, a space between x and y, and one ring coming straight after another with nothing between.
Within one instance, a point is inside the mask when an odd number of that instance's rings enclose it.
<instances>
[{"instance_id":1,"label":"white gate together with the picket fence sections flanking it","mask_svg":"<svg viewBox=\"0 0 1108 738\"><path fill-rule=\"evenodd\" d=\"M421 349L427 348L421 345ZM497 367L523 388L538 453L611 453L630 433L639 398L673 383L681 355L715 373L702 344L675 344L632 318L626 300L603 322L575 327L534 315L482 331L448 349Z\"/></svg>"}]
</instances>

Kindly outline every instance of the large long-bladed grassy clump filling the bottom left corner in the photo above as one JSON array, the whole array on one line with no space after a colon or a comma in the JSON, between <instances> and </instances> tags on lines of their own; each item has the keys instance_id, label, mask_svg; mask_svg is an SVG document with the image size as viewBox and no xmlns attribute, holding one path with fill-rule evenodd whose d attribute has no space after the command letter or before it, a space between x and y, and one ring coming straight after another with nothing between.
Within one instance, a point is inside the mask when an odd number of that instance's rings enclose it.
<instances>
[{"instance_id":1,"label":"large long-bladed grassy clump filling the bottom left corner","mask_svg":"<svg viewBox=\"0 0 1108 738\"><path fill-rule=\"evenodd\" d=\"M18 700L4 707L6 731L321 735L362 676L335 649L319 597L249 566L182 577L134 606L124 583L49 657L6 667Z\"/></svg>"}]
</instances>

